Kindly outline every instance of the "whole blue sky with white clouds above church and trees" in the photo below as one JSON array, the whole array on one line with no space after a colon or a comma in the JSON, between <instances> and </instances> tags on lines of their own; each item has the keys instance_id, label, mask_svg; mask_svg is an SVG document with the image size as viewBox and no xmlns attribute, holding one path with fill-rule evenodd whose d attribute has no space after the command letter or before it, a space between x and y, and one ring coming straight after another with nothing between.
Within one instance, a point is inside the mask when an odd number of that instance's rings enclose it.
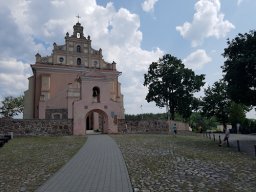
<instances>
[{"instance_id":1,"label":"whole blue sky with white clouds above church and trees","mask_svg":"<svg viewBox=\"0 0 256 192\"><path fill-rule=\"evenodd\" d=\"M227 39L256 29L255 9L255 0L0 0L0 100L28 89L35 54L64 44L79 14L92 47L122 72L125 113L165 112L145 100L149 65L171 54L211 86L222 78Z\"/></svg>"}]
</instances>

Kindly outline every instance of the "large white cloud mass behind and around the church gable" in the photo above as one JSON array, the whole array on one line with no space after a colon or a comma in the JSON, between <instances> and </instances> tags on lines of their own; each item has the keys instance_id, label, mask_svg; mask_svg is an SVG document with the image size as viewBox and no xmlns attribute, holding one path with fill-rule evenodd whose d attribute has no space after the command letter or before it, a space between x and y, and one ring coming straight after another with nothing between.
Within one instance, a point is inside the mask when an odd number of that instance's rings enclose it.
<instances>
[{"instance_id":1,"label":"large white cloud mass behind and around the church gable","mask_svg":"<svg viewBox=\"0 0 256 192\"><path fill-rule=\"evenodd\" d=\"M27 77L31 75L28 63L35 62L38 51L42 56L51 54L53 42L64 44L65 34L73 32L75 16L79 14L84 34L91 36L93 48L102 48L104 59L115 60L122 72L126 112L138 113L141 104L144 112L152 111L155 104L145 101L147 88L143 86L143 75L163 51L141 48L138 15L124 8L116 10L112 3L99 6L96 0L10 2L0 5L0 21L5 26L0 30L0 98L21 94L28 88ZM6 38L7 34L16 38Z\"/></svg>"}]
</instances>

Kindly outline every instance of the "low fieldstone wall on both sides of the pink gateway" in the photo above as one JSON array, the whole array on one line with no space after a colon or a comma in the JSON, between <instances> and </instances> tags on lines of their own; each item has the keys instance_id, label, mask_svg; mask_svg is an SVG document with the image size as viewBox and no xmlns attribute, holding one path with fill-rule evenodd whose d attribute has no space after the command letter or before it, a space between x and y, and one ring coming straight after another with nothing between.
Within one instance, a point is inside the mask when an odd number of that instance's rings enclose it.
<instances>
[{"instance_id":1,"label":"low fieldstone wall on both sides of the pink gateway","mask_svg":"<svg viewBox=\"0 0 256 192\"><path fill-rule=\"evenodd\" d=\"M183 122L176 123L177 131L189 131L189 125ZM118 120L119 133L168 133L168 122L163 120L125 121ZM53 119L7 119L0 118L0 134L13 132L14 135L52 135L63 136L73 134L73 121Z\"/></svg>"}]
</instances>

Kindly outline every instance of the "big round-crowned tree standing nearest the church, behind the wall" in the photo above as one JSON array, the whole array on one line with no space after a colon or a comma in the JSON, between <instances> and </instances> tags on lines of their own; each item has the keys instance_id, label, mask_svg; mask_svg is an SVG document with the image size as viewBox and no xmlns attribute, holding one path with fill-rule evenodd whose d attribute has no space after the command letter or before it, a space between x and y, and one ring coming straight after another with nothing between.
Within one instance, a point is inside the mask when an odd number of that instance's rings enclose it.
<instances>
[{"instance_id":1,"label":"big round-crowned tree standing nearest the church, behind the wall","mask_svg":"<svg viewBox=\"0 0 256 192\"><path fill-rule=\"evenodd\" d=\"M192 111L193 94L204 85L204 75L195 75L184 67L181 60L166 54L153 62L144 74L144 86L148 86L147 102L156 102L159 107L168 104L171 119L175 112L188 118Z\"/></svg>"}]
</instances>

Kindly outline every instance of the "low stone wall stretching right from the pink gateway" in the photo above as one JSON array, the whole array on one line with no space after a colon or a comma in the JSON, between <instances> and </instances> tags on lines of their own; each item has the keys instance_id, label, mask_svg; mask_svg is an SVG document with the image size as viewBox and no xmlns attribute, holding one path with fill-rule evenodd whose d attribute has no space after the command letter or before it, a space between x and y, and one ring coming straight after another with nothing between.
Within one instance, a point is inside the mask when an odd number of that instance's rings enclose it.
<instances>
[{"instance_id":1,"label":"low stone wall stretching right from the pink gateway","mask_svg":"<svg viewBox=\"0 0 256 192\"><path fill-rule=\"evenodd\" d=\"M170 121L170 126L176 123L177 131L189 131L187 123L179 121ZM146 120L146 121L118 121L119 133L168 133L168 122L164 120Z\"/></svg>"}]
</instances>

